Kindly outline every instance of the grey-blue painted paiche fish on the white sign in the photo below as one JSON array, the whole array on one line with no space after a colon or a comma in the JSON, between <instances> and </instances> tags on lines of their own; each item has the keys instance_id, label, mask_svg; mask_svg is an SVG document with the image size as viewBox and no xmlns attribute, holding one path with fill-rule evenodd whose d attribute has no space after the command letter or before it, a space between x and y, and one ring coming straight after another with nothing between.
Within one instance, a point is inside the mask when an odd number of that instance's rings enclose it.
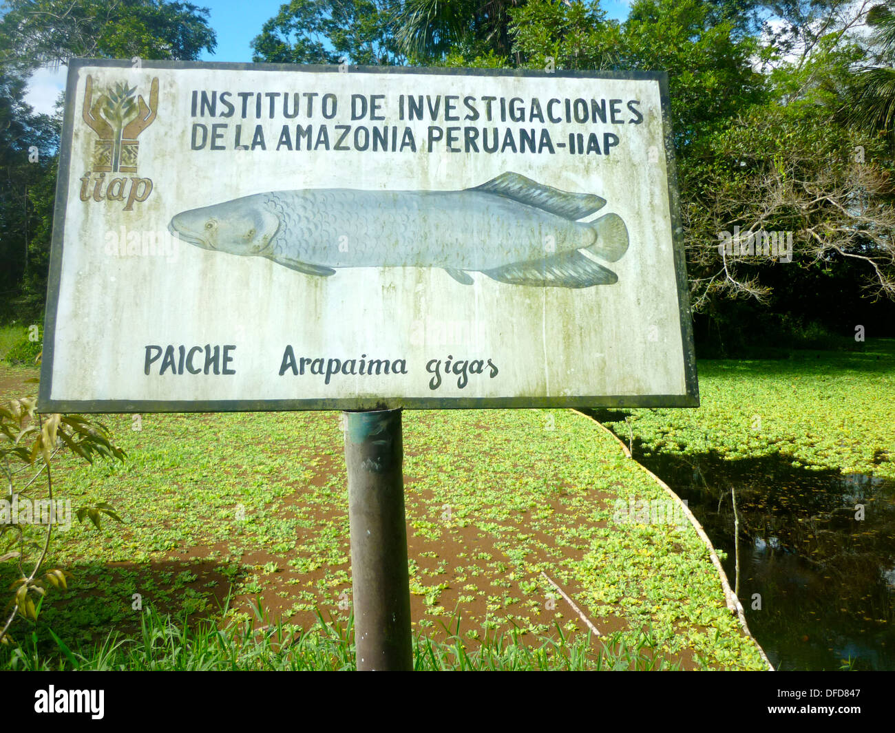
<instances>
[{"instance_id":1,"label":"grey-blue painted paiche fish on the white sign","mask_svg":"<svg viewBox=\"0 0 895 733\"><path fill-rule=\"evenodd\" d=\"M618 282L586 253L621 258L625 222L618 214L580 221L605 204L507 172L462 191L256 193L183 211L168 230L205 250L319 277L338 268L442 268L462 285L481 272L509 285L581 288Z\"/></svg>"}]
</instances>

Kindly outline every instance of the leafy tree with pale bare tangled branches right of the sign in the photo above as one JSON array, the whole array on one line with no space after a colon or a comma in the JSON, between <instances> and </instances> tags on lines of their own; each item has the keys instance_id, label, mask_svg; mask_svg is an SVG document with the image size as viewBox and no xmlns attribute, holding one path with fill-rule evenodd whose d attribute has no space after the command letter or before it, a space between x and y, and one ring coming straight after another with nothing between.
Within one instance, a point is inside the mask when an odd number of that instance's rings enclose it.
<instances>
[{"instance_id":1,"label":"leafy tree with pale bare tangled branches right of the sign","mask_svg":"<svg viewBox=\"0 0 895 733\"><path fill-rule=\"evenodd\" d=\"M849 268L855 289L863 279L872 294L895 300L891 165L879 141L858 139L858 147L844 132L823 107L757 105L688 166L682 213L696 310L720 295L794 299L812 271L829 275L849 260L864 268ZM737 232L746 252L720 251L737 244ZM762 257L761 238L748 253L748 235L761 233L786 236L789 254ZM823 289L823 278L813 287Z\"/></svg>"}]
</instances>

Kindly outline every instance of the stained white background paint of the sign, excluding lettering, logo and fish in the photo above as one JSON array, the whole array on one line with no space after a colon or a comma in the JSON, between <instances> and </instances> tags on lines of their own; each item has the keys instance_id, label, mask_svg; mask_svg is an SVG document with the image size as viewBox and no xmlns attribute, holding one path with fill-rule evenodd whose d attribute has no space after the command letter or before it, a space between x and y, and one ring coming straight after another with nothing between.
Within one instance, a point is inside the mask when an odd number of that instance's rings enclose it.
<instances>
[{"instance_id":1,"label":"stained white background paint of the sign, excluding lettering, logo and fish","mask_svg":"<svg viewBox=\"0 0 895 733\"><path fill-rule=\"evenodd\" d=\"M124 184L113 192L123 200L81 200L80 179L95 166L98 141L82 109L88 77L95 97L126 82L144 103L151 101L153 80L158 79L158 114L136 138L136 171L106 174L106 179L151 180L145 200L139 198L146 186L134 193ZM350 107L345 108L351 95L383 94L387 119L376 124L410 126L418 149L277 151L276 140L268 137L265 151L191 150L192 89L337 95L340 111L335 118L262 119L266 131L278 131L282 124L358 124L347 114ZM698 404L662 73L355 67L340 73L337 67L175 62L135 69L125 62L73 60L66 94L41 409ZM443 117L437 123L398 121L393 104L400 94L637 99L643 123L485 125L545 128L553 141L566 141L568 132L584 132L585 137L591 130L615 132L618 146L609 156L570 155L561 149L553 155L428 153L428 125L446 123ZM233 120L199 122L229 122L232 134ZM243 122L247 128L254 124L252 119ZM464 124L482 126L481 121L447 123ZM456 192L507 172L606 200L584 221L612 213L625 222L630 239L624 256L613 262L591 258L610 268L618 282L579 289L518 286L470 271L473 284L464 285L444 269L425 266L428 262L416 263L423 267L342 268L320 277L175 238L162 255L107 252L109 233L119 233L122 226L127 233L166 233L180 212L243 196L311 189ZM132 193L132 208L125 210ZM234 375L144 374L146 345L207 344L236 346ZM286 345L294 347L297 359L359 360L362 354L404 359L408 373L345 375L328 384L317 375L287 371L280 377ZM478 379L459 388L456 376L442 375L439 388L430 389L426 363L444 362L448 356L455 362L490 359L499 367L499 378L475 375Z\"/></svg>"}]
</instances>

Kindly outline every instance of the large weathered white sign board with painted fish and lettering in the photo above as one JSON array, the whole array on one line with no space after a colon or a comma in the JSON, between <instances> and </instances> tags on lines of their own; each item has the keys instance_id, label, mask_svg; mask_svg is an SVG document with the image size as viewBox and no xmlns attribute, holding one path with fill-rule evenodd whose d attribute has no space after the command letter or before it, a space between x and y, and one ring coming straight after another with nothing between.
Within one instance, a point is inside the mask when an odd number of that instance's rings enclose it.
<instances>
[{"instance_id":1,"label":"large weathered white sign board with painted fish and lettering","mask_svg":"<svg viewBox=\"0 0 895 733\"><path fill-rule=\"evenodd\" d=\"M69 68L39 405L698 404L661 73Z\"/></svg>"}]
</instances>

